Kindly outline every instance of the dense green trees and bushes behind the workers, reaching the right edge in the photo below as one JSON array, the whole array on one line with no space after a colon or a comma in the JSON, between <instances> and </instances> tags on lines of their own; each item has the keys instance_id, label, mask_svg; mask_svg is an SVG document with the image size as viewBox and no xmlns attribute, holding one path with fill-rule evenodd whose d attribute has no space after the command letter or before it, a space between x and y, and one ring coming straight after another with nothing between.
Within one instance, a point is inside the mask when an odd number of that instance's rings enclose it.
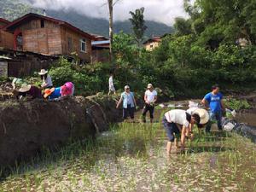
<instances>
[{"instance_id":1,"label":"dense green trees and bushes behind the workers, reaching the right edge","mask_svg":"<svg viewBox=\"0 0 256 192\"><path fill-rule=\"evenodd\" d=\"M120 34L115 48L119 50L116 53L119 66L125 67L126 73L131 69L128 76L130 84L137 82L134 88L151 82L168 96L202 96L216 83L224 89L253 87L255 6L253 0L198 0L193 6L184 1L190 18L177 18L176 33L163 38L153 52L137 48L131 36ZM247 44L240 46L239 38L245 38Z\"/></svg>"}]
</instances>

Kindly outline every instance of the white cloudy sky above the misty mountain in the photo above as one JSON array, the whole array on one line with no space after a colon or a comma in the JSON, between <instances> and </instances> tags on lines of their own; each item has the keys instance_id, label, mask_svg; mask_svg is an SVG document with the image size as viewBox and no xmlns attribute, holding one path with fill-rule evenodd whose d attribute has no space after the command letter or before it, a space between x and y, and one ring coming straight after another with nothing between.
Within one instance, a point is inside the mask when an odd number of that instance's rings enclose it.
<instances>
[{"instance_id":1,"label":"white cloudy sky above the misty mountain","mask_svg":"<svg viewBox=\"0 0 256 192\"><path fill-rule=\"evenodd\" d=\"M91 17L108 19L107 0L26 0L42 9L73 9ZM113 0L115 2L115 0ZM129 11L144 7L146 20L156 20L171 26L183 11L183 0L119 0L114 6L114 20L126 20Z\"/></svg>"}]
</instances>

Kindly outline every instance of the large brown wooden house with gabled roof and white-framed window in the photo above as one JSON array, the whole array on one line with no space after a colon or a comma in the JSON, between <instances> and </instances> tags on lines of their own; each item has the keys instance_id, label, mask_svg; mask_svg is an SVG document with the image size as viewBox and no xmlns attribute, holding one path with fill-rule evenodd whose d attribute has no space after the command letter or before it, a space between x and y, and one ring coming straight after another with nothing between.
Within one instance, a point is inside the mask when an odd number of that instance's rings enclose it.
<instances>
[{"instance_id":1,"label":"large brown wooden house with gabled roof and white-framed window","mask_svg":"<svg viewBox=\"0 0 256 192\"><path fill-rule=\"evenodd\" d=\"M78 55L82 62L90 62L91 40L95 37L71 24L54 18L27 14L4 26L13 34L13 49L44 55Z\"/></svg>"}]
</instances>

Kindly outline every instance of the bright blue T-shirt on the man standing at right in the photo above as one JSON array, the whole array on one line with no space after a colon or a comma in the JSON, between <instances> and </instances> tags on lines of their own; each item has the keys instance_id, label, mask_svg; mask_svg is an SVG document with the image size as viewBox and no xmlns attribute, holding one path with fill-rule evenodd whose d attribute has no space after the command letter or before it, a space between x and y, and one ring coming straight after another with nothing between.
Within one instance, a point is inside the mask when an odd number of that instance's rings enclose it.
<instances>
[{"instance_id":1,"label":"bright blue T-shirt on the man standing at right","mask_svg":"<svg viewBox=\"0 0 256 192\"><path fill-rule=\"evenodd\" d=\"M209 103L210 109L212 113L221 112L221 100L223 95L218 93L217 95L213 95L212 92L208 93L204 99Z\"/></svg>"}]
</instances>

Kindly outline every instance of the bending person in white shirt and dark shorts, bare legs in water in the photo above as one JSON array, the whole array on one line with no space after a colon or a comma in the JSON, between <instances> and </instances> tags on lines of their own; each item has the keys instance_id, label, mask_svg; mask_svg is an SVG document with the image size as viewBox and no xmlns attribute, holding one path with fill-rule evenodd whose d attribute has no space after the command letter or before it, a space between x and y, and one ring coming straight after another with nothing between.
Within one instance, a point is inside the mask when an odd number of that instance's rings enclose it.
<instances>
[{"instance_id":1,"label":"bending person in white shirt and dark shorts, bare legs in water","mask_svg":"<svg viewBox=\"0 0 256 192\"><path fill-rule=\"evenodd\" d=\"M181 134L181 150L184 150L186 133L192 132L193 126L199 124L201 118L198 113L190 115L182 109L172 109L165 113L162 124L166 129L166 134L169 139L166 152L169 155L172 149L172 143L175 140L176 134Z\"/></svg>"}]
</instances>

